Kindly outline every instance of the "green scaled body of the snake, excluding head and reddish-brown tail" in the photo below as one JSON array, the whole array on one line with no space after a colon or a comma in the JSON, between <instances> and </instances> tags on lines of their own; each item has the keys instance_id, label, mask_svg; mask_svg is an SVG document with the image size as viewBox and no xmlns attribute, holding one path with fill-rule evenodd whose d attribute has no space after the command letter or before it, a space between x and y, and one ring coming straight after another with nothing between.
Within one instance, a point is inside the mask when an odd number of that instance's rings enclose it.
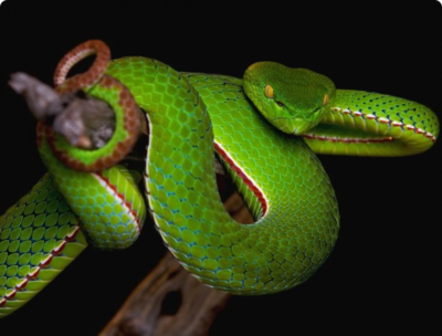
<instances>
[{"instance_id":1,"label":"green scaled body of the snake, excluding head and reddish-brown tail","mask_svg":"<svg viewBox=\"0 0 442 336\"><path fill-rule=\"evenodd\" d=\"M337 202L308 146L320 154L398 156L424 151L439 136L439 122L429 108L382 94L337 90L322 124L308 133L394 141L304 141L271 126L245 98L241 80L179 74L143 57L114 61L108 74L128 86L148 113L145 182L162 239L194 276L234 294L290 288L309 277L329 255L339 229ZM90 94L116 99L112 91L97 87ZM376 120L369 115L376 115ZM255 217L254 224L241 225L224 211L214 178L213 140L265 196L263 214L254 192L225 164ZM143 197L123 167L99 175L73 171L56 160L45 141L40 151L53 180L45 176L0 217L0 317L33 297L86 246L80 232L35 279L30 277L77 228L74 213L87 240L102 249L130 245L146 214Z\"/></svg>"}]
</instances>

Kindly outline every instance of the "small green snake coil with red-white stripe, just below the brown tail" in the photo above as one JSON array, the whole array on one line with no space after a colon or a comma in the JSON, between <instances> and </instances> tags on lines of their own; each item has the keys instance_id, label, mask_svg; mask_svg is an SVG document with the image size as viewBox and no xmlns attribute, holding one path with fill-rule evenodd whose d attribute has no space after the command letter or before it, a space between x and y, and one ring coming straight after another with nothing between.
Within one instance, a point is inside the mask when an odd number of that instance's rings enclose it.
<instances>
[{"instance_id":1,"label":"small green snake coil with red-white stripe, just below the brown tail","mask_svg":"<svg viewBox=\"0 0 442 336\"><path fill-rule=\"evenodd\" d=\"M90 242L104 250L125 249L135 242L145 221L146 209L141 193L124 167L112 167L98 176L67 168L45 141L39 150L54 185L78 217ZM124 198L108 186L116 188Z\"/></svg>"}]
</instances>

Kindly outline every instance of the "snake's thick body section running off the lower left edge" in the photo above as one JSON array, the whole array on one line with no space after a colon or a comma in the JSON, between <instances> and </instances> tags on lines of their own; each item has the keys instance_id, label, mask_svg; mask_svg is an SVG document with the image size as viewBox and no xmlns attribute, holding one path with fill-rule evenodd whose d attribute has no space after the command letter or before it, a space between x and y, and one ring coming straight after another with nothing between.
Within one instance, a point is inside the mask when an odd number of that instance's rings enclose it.
<instances>
[{"instance_id":1,"label":"snake's thick body section running off the lower left edge","mask_svg":"<svg viewBox=\"0 0 442 336\"><path fill-rule=\"evenodd\" d=\"M0 217L0 302L17 292L0 307L7 316L31 300L62 272L87 245L82 232L53 256L48 267L40 264L78 227L74 213L55 189L49 175L36 183L15 206ZM22 291L17 287L29 280Z\"/></svg>"}]
</instances>

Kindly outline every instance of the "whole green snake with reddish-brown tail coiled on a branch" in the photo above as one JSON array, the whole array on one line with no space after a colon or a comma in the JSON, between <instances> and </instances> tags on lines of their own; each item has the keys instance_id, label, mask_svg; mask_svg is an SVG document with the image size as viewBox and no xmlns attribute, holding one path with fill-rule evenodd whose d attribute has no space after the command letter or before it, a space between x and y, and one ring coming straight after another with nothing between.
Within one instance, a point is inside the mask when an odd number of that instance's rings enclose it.
<instances>
[{"instance_id":1,"label":"whole green snake with reddish-brown tail coiled on a branch","mask_svg":"<svg viewBox=\"0 0 442 336\"><path fill-rule=\"evenodd\" d=\"M91 54L90 71L66 80ZM0 317L31 300L88 243L129 246L147 212L170 252L204 284L241 295L288 290L324 263L339 230L334 189L314 153L414 155L439 136L435 114L421 104L336 90L324 75L272 62L251 65L243 80L179 73L146 57L110 61L103 42L88 41L61 61L55 86L107 102L115 132L88 150L39 123L49 174L0 217ZM141 116L149 137L141 171L147 208L140 175L118 165L138 138ZM224 210L214 155L253 224Z\"/></svg>"}]
</instances>

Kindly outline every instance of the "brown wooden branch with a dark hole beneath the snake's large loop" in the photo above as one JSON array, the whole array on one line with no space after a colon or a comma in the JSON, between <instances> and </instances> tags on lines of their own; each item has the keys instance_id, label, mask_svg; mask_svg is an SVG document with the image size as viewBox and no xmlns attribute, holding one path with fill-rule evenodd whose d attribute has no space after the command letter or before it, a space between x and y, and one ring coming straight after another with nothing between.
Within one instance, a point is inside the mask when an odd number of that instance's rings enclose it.
<instances>
[{"instance_id":1,"label":"brown wooden branch with a dark hole beneath the snake's large loop","mask_svg":"<svg viewBox=\"0 0 442 336\"><path fill-rule=\"evenodd\" d=\"M241 222L252 218L238 193L224 204ZM176 312L165 312L175 296ZM135 288L101 336L200 336L208 335L217 314L230 294L212 290L192 277L170 254Z\"/></svg>"}]
</instances>

